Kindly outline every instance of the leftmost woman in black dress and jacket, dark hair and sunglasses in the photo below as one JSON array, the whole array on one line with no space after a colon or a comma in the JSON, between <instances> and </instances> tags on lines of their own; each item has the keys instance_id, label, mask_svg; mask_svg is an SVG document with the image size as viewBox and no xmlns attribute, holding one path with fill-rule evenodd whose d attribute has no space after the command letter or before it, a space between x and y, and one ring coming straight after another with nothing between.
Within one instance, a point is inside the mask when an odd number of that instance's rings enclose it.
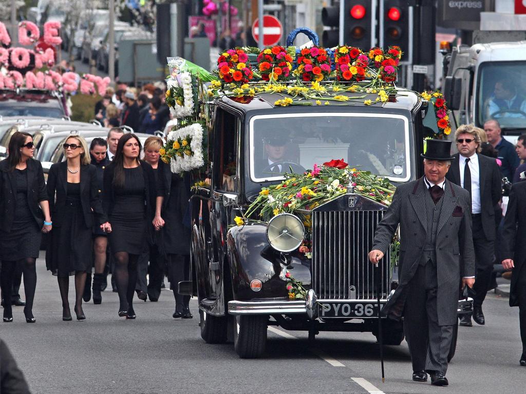
<instances>
[{"instance_id":1,"label":"leftmost woman in black dress and jacket, dark hair and sunglasses","mask_svg":"<svg viewBox=\"0 0 526 394\"><path fill-rule=\"evenodd\" d=\"M4 295L4 322L13 321L11 290L18 261L24 271L27 323L35 323L33 299L42 232L52 229L42 164L33 159L31 134L16 132L9 141L9 155L0 162L0 273ZM40 205L40 208L38 208Z\"/></svg>"}]
</instances>

